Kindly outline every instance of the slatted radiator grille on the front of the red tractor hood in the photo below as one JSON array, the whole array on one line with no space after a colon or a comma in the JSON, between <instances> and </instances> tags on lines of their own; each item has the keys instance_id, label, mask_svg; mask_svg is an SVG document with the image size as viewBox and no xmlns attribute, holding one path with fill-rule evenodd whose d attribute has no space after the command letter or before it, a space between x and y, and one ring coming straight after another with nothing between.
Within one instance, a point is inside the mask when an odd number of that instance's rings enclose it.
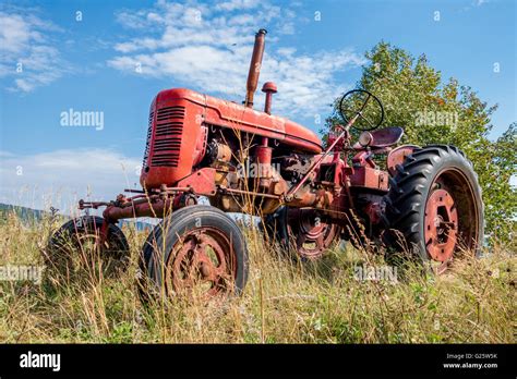
<instances>
[{"instance_id":1,"label":"slatted radiator grille on the front of the red tractor hood","mask_svg":"<svg viewBox=\"0 0 517 379\"><path fill-rule=\"evenodd\" d=\"M156 113L152 166L178 167L184 107L166 107Z\"/></svg>"}]
</instances>

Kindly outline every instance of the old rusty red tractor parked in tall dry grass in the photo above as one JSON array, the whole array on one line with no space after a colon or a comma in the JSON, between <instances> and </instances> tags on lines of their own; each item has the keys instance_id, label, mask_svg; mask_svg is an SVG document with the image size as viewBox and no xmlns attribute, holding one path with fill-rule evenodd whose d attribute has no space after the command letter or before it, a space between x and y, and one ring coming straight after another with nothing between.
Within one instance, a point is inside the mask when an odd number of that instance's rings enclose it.
<instances>
[{"instance_id":1,"label":"old rusty red tractor parked in tall dry grass","mask_svg":"<svg viewBox=\"0 0 517 379\"><path fill-rule=\"evenodd\" d=\"M124 267L129 246L118 220L161 218L142 250L142 273L153 286L167 294L239 293L248 277L247 241L226 212L260 216L263 229L302 259L320 258L339 239L361 244L364 237L437 272L459 252L479 253L483 204L472 163L454 146L395 148L404 131L378 129L384 110L371 93L342 97L342 123L325 146L309 129L270 114L274 83L262 88L264 111L253 109L265 34L255 36L243 105L184 88L158 93L143 190L108 203L81 200L80 209L106 207L104 217L61 227L49 243L50 265L73 270L73 256L89 241L107 266ZM203 197L209 205L199 204Z\"/></svg>"}]
</instances>

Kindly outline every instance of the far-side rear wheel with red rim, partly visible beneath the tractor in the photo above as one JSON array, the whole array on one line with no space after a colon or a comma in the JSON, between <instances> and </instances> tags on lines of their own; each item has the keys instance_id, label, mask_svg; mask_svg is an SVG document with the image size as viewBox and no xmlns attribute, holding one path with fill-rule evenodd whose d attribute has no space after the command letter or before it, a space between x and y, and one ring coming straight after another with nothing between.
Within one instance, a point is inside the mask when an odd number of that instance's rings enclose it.
<instances>
[{"instance_id":1,"label":"far-side rear wheel with red rim, partly visible beneath the tractor","mask_svg":"<svg viewBox=\"0 0 517 379\"><path fill-rule=\"evenodd\" d=\"M274 241L303 260L317 260L339 240L340 229L321 220L312 209L282 207L269 215L265 227Z\"/></svg>"}]
</instances>

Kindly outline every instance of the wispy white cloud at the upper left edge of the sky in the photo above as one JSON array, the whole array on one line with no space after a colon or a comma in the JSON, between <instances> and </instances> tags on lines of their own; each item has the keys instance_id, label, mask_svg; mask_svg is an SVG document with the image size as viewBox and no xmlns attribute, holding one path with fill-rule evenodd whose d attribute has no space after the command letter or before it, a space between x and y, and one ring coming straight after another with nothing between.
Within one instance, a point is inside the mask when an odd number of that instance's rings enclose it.
<instances>
[{"instance_id":1,"label":"wispy white cloud at the upper left edge of the sky","mask_svg":"<svg viewBox=\"0 0 517 379\"><path fill-rule=\"evenodd\" d=\"M50 35L56 32L60 28L31 11L0 11L0 77L12 80L8 89L28 93L69 71L52 46Z\"/></svg>"}]
</instances>

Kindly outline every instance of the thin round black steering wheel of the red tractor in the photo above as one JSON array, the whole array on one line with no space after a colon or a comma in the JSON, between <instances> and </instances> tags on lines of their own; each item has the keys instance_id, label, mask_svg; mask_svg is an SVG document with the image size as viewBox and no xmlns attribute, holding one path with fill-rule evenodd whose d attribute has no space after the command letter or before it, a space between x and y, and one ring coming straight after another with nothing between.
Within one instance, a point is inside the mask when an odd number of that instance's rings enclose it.
<instances>
[{"instance_id":1,"label":"thin round black steering wheel of the red tractor","mask_svg":"<svg viewBox=\"0 0 517 379\"><path fill-rule=\"evenodd\" d=\"M370 107L366 108L369 103ZM384 120L384 108L381 100L364 89L352 89L346 93L339 101L338 109L347 124L357 117L351 127L358 131L373 131L381 126Z\"/></svg>"}]
</instances>

